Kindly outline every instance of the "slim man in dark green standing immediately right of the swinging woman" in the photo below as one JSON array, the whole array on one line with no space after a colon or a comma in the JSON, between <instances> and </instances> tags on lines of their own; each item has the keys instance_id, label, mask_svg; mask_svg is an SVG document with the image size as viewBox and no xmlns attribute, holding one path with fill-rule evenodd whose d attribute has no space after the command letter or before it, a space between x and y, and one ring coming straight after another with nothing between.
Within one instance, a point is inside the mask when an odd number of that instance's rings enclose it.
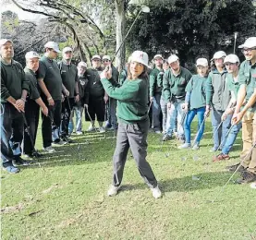
<instances>
[{"instance_id":1,"label":"slim man in dark green standing immediately right of the swinging woman","mask_svg":"<svg viewBox=\"0 0 256 240\"><path fill-rule=\"evenodd\" d=\"M155 133L161 133L161 106L160 99L162 95L163 85L160 85L157 81L157 76L160 72L163 72L163 56L156 54L153 57L154 68L150 73L150 102L152 102L152 128Z\"/></svg>"}]
</instances>

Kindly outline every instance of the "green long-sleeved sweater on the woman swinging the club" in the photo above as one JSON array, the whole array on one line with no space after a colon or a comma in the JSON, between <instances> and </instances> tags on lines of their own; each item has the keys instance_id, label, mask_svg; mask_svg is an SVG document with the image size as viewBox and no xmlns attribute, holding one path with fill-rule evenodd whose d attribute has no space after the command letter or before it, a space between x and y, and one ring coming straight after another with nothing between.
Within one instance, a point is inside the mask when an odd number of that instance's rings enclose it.
<instances>
[{"instance_id":1,"label":"green long-sleeved sweater on the woman swinging the club","mask_svg":"<svg viewBox=\"0 0 256 240\"><path fill-rule=\"evenodd\" d=\"M134 124L148 119L148 81L146 79L127 79L120 87L113 86L106 78L101 81L106 93L117 100L118 121Z\"/></svg>"}]
</instances>

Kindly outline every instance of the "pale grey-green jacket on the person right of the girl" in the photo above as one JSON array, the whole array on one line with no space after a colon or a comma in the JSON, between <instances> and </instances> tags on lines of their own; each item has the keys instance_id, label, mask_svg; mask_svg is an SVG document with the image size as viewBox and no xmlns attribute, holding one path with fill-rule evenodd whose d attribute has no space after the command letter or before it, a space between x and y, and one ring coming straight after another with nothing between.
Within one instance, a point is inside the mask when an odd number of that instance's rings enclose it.
<instances>
[{"instance_id":1,"label":"pale grey-green jacket on the person right of the girl","mask_svg":"<svg viewBox=\"0 0 256 240\"><path fill-rule=\"evenodd\" d=\"M207 80L211 95L210 98L207 97L206 104L212 102L213 108L218 111L226 111L231 99L231 92L228 89L226 74L226 70L224 70L223 73L219 73L217 69L214 69L210 72Z\"/></svg>"}]
</instances>

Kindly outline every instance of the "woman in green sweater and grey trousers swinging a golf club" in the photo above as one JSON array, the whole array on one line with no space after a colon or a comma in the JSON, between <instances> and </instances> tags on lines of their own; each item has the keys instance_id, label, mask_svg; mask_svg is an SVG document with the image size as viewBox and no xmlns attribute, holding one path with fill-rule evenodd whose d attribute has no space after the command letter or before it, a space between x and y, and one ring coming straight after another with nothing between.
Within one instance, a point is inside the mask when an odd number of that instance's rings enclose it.
<instances>
[{"instance_id":1,"label":"woman in green sweater and grey trousers swinging a golf club","mask_svg":"<svg viewBox=\"0 0 256 240\"><path fill-rule=\"evenodd\" d=\"M112 77L111 69L104 70L101 74L104 90L109 97L118 101L116 111L118 130L116 150L113 157L114 175L113 184L107 192L108 196L115 196L118 192L129 147L137 163L140 175L152 190L152 196L160 198L162 195L152 173L152 168L149 162L146 161L147 136L150 124L148 115L149 80L146 74L148 61L148 54L135 51L131 55L131 61L128 64L128 79L121 87L114 86L108 80Z\"/></svg>"}]
</instances>

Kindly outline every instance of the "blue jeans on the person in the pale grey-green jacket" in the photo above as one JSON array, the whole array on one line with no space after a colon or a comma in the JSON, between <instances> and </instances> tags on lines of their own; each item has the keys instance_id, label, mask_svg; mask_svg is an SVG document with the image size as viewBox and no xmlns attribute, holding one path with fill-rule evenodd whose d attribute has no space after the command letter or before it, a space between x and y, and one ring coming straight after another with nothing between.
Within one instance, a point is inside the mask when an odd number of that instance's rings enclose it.
<instances>
[{"instance_id":1,"label":"blue jeans on the person in the pale grey-green jacket","mask_svg":"<svg viewBox=\"0 0 256 240\"><path fill-rule=\"evenodd\" d=\"M219 127L218 131L216 130L221 123L222 114L224 114L224 111L215 109L213 109L211 114L214 148L218 148L220 144L224 144L223 141L226 137L226 133L228 132L229 127L231 126L232 115L229 114L227 115L226 120L223 122L222 126Z\"/></svg>"}]
</instances>

